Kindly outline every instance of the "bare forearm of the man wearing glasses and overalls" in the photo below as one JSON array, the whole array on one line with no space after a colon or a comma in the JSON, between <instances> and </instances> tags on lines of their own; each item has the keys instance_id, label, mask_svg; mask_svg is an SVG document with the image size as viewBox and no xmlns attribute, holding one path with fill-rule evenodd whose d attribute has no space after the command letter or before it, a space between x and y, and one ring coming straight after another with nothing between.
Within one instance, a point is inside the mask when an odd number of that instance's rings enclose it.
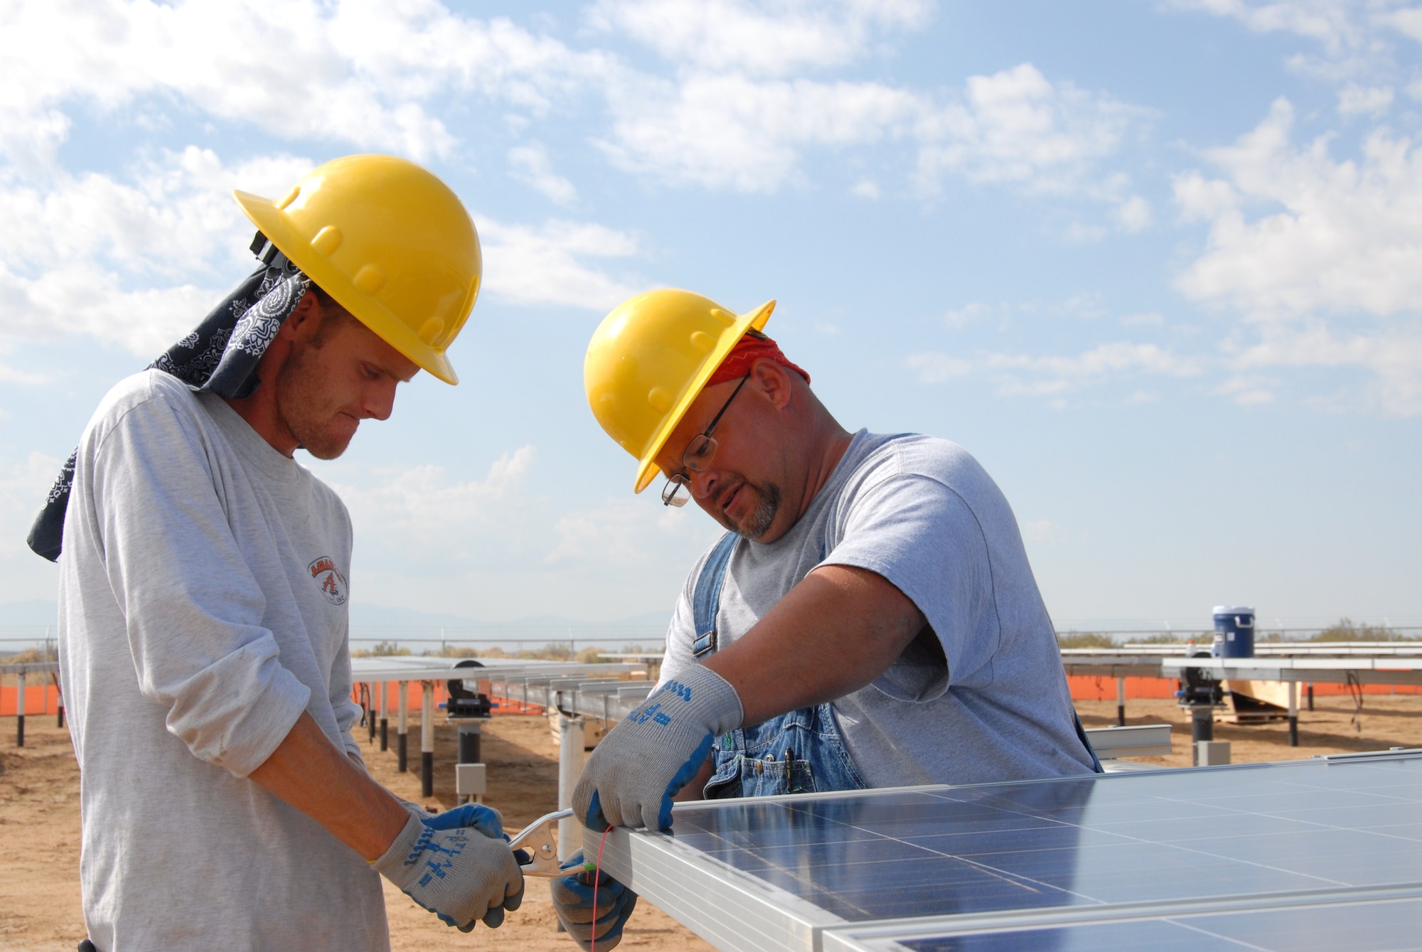
<instances>
[{"instance_id":1,"label":"bare forearm of the man wearing glasses and overalls","mask_svg":"<svg viewBox=\"0 0 1422 952\"><path fill-rule=\"evenodd\" d=\"M741 695L745 723L761 723L870 683L924 624L917 605L883 575L826 566L712 655L707 668Z\"/></svg>"}]
</instances>

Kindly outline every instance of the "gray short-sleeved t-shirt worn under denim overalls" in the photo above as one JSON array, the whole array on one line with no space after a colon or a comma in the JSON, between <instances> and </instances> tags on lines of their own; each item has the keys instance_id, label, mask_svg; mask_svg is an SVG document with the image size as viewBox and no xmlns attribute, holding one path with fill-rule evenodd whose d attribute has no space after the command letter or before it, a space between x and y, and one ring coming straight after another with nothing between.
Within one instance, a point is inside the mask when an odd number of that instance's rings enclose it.
<instances>
[{"instance_id":1,"label":"gray short-sleeved t-shirt worn under denim overalls","mask_svg":"<svg viewBox=\"0 0 1422 952\"><path fill-rule=\"evenodd\" d=\"M663 681L695 664L691 597L705 558L677 601ZM873 683L833 702L870 786L1091 773L1017 520L967 450L931 436L856 433L788 533L768 544L737 541L717 611L720 645L819 566L883 575L927 617L943 648L940 658L916 641Z\"/></svg>"}]
</instances>

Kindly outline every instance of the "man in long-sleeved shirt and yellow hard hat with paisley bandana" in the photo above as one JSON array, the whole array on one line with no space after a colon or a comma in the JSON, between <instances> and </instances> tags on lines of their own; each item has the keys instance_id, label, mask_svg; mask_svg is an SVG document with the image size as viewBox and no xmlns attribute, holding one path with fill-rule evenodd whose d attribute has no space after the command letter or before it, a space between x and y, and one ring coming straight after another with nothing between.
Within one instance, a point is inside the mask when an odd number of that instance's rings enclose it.
<instances>
[{"instance_id":1,"label":"man in long-sleeved shirt and yellow hard hat with paisley bandana","mask_svg":"<svg viewBox=\"0 0 1422 952\"><path fill-rule=\"evenodd\" d=\"M100 404L31 547L60 563L88 948L388 949L383 874L449 925L523 892L499 817L431 817L350 727L351 524L300 466L390 416L479 288L459 199L350 156L236 193L260 266Z\"/></svg>"}]
</instances>

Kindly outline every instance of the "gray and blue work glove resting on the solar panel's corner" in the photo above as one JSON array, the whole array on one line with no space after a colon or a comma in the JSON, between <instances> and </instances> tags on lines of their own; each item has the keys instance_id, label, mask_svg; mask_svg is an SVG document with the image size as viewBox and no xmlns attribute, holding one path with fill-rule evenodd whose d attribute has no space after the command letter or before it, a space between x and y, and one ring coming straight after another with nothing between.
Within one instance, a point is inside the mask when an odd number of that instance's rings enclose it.
<instances>
[{"instance_id":1,"label":"gray and blue work glove resting on the solar panel's corner","mask_svg":"<svg viewBox=\"0 0 1422 952\"><path fill-rule=\"evenodd\" d=\"M711 753L711 739L741 726L741 698L725 678L693 665L661 685L603 737L573 790L589 830L671 828L671 797Z\"/></svg>"}]
</instances>

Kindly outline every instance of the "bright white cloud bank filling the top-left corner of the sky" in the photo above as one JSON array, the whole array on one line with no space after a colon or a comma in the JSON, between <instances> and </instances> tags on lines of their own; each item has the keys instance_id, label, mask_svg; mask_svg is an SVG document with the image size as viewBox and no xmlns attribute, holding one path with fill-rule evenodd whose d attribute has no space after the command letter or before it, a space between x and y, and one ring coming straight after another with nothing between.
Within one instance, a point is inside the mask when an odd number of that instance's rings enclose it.
<instances>
[{"instance_id":1,"label":"bright white cloud bank filling the top-left corner of the sky","mask_svg":"<svg viewBox=\"0 0 1422 952\"><path fill-rule=\"evenodd\" d=\"M6 4L0 63L0 145L31 162L53 155L63 122L26 141L14 131L28 117L75 99L112 109L173 94L284 138L419 159L455 144L428 101L465 92L545 108L606 57L435 0L54 0Z\"/></svg>"}]
</instances>

